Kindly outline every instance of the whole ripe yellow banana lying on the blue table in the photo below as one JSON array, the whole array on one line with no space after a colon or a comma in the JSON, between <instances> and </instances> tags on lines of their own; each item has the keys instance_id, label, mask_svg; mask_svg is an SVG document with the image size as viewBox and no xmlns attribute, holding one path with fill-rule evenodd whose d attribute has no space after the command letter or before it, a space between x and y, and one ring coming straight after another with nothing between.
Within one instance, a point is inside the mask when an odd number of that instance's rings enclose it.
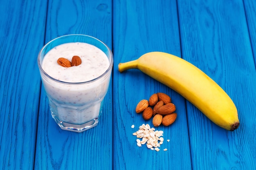
<instances>
[{"instance_id":1,"label":"whole ripe yellow banana lying on the blue table","mask_svg":"<svg viewBox=\"0 0 256 170\"><path fill-rule=\"evenodd\" d=\"M239 126L236 106L225 91L193 64L180 57L150 52L118 65L119 72L137 68L180 93L218 126L233 131Z\"/></svg>"}]
</instances>

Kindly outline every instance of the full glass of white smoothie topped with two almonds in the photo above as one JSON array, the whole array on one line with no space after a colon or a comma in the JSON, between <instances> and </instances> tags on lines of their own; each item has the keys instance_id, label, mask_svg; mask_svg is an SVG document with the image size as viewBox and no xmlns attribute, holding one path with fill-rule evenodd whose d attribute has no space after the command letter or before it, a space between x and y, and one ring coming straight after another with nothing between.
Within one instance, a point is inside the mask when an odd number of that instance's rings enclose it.
<instances>
[{"instance_id":1,"label":"full glass of white smoothie topped with two almonds","mask_svg":"<svg viewBox=\"0 0 256 170\"><path fill-rule=\"evenodd\" d=\"M61 129L83 132L98 124L112 66L112 51L88 35L64 35L43 46L38 67Z\"/></svg>"}]
</instances>

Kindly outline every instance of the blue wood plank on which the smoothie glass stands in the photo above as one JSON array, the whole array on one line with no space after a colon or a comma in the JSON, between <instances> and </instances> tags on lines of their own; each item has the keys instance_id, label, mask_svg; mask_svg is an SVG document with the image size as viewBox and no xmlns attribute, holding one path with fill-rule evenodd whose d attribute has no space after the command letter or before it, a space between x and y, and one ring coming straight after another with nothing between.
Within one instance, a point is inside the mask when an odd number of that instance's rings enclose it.
<instances>
[{"instance_id":1,"label":"blue wood plank on which the smoothie glass stands","mask_svg":"<svg viewBox=\"0 0 256 170\"><path fill-rule=\"evenodd\" d=\"M91 35L112 48L111 1L50 0L46 42L66 34ZM42 89L35 169L112 169L112 82L99 124L81 133L57 126Z\"/></svg>"}]
</instances>

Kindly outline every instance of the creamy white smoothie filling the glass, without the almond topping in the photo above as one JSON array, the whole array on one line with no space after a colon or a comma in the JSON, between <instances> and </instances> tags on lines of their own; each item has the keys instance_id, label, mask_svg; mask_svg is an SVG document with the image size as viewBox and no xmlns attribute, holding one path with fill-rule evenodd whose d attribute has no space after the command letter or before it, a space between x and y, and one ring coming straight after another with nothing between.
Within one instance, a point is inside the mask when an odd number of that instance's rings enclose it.
<instances>
[{"instance_id":1,"label":"creamy white smoothie filling the glass, without the almond topping","mask_svg":"<svg viewBox=\"0 0 256 170\"><path fill-rule=\"evenodd\" d=\"M79 66L58 65L58 58L71 61L74 55L81 58ZM70 124L84 124L99 117L111 71L100 79L95 78L105 73L109 65L107 55L91 44L72 42L51 49L43 58L42 68L49 76L61 81L42 76L52 113L60 121Z\"/></svg>"}]
</instances>

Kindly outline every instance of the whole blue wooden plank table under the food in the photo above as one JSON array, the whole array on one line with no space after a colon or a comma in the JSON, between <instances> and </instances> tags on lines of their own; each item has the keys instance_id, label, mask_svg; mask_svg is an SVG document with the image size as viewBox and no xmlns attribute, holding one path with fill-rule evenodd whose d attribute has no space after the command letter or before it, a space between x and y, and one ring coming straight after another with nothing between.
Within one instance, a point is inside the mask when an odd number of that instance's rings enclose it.
<instances>
[{"instance_id":1,"label":"whole blue wooden plank table under the food","mask_svg":"<svg viewBox=\"0 0 256 170\"><path fill-rule=\"evenodd\" d=\"M44 44L67 34L94 36L114 54L101 120L81 133L52 119L36 62ZM236 104L239 128L218 127L138 70L118 72L151 51L182 57L216 81ZM255 0L0 0L0 169L254 170L255 57ZM157 92L177 112L174 124L156 128L164 131L159 152L132 135L152 126L135 107Z\"/></svg>"}]
</instances>

